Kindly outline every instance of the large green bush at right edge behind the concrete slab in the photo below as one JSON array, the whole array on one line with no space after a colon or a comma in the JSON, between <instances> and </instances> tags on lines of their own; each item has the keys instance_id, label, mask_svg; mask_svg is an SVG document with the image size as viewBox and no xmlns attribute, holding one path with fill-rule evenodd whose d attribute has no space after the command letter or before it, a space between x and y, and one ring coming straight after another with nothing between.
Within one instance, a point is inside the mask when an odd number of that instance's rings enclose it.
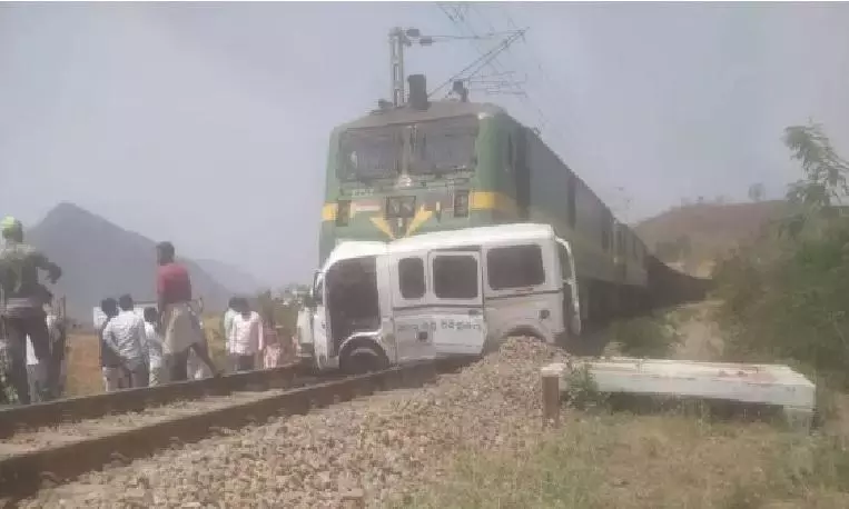
<instances>
[{"instance_id":1,"label":"large green bush at right edge behind the concrete slab","mask_svg":"<svg viewBox=\"0 0 849 509\"><path fill-rule=\"evenodd\" d=\"M760 239L717 263L717 321L730 360L782 361L847 386L849 367L849 167L819 126L787 129L804 179L788 214Z\"/></svg>"}]
</instances>

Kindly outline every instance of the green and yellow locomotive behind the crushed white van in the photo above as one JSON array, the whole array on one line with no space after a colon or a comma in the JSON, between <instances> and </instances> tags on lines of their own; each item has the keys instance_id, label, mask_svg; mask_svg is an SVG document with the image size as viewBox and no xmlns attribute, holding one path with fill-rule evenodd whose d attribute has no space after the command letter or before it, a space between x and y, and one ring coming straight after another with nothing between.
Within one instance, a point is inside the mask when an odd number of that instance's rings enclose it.
<instances>
[{"instance_id":1,"label":"green and yellow locomotive behind the crushed white van","mask_svg":"<svg viewBox=\"0 0 849 509\"><path fill-rule=\"evenodd\" d=\"M333 131L319 263L339 240L544 222L572 243L584 319L649 305L645 246L534 130L493 104L430 102L421 76L409 83L405 106Z\"/></svg>"}]
</instances>

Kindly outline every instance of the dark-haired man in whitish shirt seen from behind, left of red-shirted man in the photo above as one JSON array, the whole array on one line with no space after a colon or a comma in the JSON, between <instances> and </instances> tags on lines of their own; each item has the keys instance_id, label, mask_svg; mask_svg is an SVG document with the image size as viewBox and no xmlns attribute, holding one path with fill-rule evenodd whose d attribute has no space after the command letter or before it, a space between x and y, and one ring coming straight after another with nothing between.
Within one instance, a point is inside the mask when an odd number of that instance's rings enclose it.
<instances>
[{"instance_id":1,"label":"dark-haired man in whitish shirt seen from behind, left of red-shirted man","mask_svg":"<svg viewBox=\"0 0 849 509\"><path fill-rule=\"evenodd\" d=\"M128 295L118 298L118 316L103 329L103 341L118 355L128 387L147 387L145 319L136 313L132 297Z\"/></svg>"}]
</instances>

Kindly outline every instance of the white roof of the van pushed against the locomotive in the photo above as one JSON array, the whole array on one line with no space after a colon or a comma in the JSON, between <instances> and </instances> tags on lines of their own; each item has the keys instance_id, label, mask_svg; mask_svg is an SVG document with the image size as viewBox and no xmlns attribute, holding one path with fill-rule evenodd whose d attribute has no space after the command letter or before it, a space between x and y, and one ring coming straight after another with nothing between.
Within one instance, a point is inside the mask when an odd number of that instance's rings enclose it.
<instances>
[{"instance_id":1,"label":"white roof of the van pushed against the locomotive","mask_svg":"<svg viewBox=\"0 0 849 509\"><path fill-rule=\"evenodd\" d=\"M523 242L552 238L554 238L554 229L549 224L520 222L418 233L412 237L393 240L392 242L347 240L334 248L323 267L323 271L340 260L377 256L387 252L409 252L437 249L443 248L446 244L466 247L501 240Z\"/></svg>"}]
</instances>

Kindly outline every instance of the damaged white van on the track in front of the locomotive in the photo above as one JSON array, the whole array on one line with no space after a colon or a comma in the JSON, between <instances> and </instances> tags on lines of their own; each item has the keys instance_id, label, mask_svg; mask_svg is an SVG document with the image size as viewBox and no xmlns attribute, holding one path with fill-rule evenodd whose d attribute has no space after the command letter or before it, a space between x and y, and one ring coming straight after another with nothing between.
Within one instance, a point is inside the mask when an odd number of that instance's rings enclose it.
<instances>
[{"instance_id":1,"label":"damaged white van on the track in front of the locomotive","mask_svg":"<svg viewBox=\"0 0 849 509\"><path fill-rule=\"evenodd\" d=\"M480 356L507 336L562 343L581 330L574 275L547 224L344 241L298 316L299 351L319 370L362 372Z\"/></svg>"}]
</instances>

